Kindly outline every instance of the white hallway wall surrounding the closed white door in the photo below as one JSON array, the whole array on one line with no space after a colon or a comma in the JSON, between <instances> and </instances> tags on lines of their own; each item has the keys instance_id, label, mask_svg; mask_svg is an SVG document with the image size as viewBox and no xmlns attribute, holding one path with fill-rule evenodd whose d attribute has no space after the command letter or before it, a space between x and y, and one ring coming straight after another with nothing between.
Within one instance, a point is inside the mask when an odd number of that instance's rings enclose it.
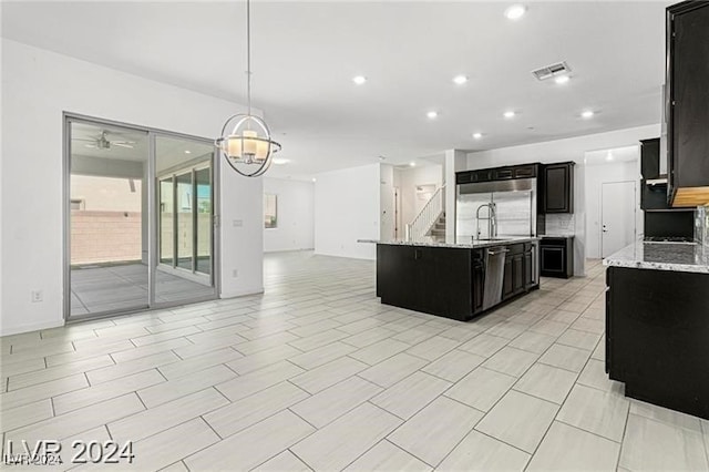
<instances>
[{"instance_id":1,"label":"white hallway wall surrounding the closed white door","mask_svg":"<svg viewBox=\"0 0 709 472\"><path fill-rule=\"evenodd\" d=\"M639 151L638 151L639 157ZM643 211L640 209L639 158L586 166L586 257L600 258L600 187L608 182L633 181L637 184L635 198L636 235L643 233ZM618 205L626 202L618 202Z\"/></svg>"}]
</instances>

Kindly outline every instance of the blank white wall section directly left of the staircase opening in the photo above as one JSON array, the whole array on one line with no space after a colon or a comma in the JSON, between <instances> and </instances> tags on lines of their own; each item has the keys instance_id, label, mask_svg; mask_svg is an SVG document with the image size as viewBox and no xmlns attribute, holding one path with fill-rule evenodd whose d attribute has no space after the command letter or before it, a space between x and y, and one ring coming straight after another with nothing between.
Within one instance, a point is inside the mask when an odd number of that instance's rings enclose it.
<instances>
[{"instance_id":1,"label":"blank white wall section directly left of the staircase opening","mask_svg":"<svg viewBox=\"0 0 709 472\"><path fill-rule=\"evenodd\" d=\"M317 175L315 252L326 256L374 259L376 245L357 243L380 236L380 164Z\"/></svg>"}]
</instances>

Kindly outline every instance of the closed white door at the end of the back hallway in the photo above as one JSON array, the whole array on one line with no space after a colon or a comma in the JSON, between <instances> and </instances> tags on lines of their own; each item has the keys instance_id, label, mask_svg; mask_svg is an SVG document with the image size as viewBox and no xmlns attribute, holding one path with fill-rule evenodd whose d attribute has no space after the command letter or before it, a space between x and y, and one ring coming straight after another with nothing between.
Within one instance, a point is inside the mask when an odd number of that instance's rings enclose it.
<instances>
[{"instance_id":1,"label":"closed white door at the end of the back hallway","mask_svg":"<svg viewBox=\"0 0 709 472\"><path fill-rule=\"evenodd\" d=\"M600 255L607 257L635 240L636 183L606 182L600 186Z\"/></svg>"}]
</instances>

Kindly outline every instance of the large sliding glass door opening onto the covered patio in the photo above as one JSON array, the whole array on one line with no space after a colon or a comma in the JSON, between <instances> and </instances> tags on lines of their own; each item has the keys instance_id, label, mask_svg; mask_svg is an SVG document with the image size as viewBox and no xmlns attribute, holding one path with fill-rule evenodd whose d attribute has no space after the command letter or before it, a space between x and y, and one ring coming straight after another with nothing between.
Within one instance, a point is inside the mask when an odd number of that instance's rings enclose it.
<instances>
[{"instance_id":1,"label":"large sliding glass door opening onto the covered patio","mask_svg":"<svg viewBox=\"0 0 709 472\"><path fill-rule=\"evenodd\" d=\"M68 116L68 318L216 298L209 141Z\"/></svg>"}]
</instances>

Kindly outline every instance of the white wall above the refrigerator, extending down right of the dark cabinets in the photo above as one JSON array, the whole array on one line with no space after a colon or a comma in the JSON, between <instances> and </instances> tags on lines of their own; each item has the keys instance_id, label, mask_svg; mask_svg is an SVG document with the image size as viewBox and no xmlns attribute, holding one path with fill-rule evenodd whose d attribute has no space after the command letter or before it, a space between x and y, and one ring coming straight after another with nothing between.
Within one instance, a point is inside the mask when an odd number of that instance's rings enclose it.
<instances>
[{"instance_id":1,"label":"white wall above the refrigerator, extending down right of the dark cabinets","mask_svg":"<svg viewBox=\"0 0 709 472\"><path fill-rule=\"evenodd\" d=\"M574 270L576 275L585 274L586 258L586 195L584 156L587 151L624 147L638 144L639 140L660 135L660 125L647 125L612 131L608 133L588 134L566 140L522 146L501 147L467 154L467 168L486 168L501 165L524 164L532 162L552 163L574 161Z\"/></svg>"}]
</instances>

